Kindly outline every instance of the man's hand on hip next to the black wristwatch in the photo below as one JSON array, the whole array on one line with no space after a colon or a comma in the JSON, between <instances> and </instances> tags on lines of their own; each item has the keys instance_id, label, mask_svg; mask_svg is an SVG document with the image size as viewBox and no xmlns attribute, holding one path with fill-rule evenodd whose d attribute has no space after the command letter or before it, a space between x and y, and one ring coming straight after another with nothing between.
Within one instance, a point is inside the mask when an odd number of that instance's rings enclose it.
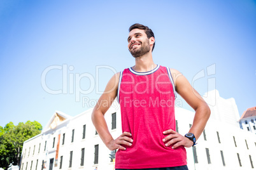
<instances>
[{"instance_id":1,"label":"man's hand on hip next to the black wristwatch","mask_svg":"<svg viewBox=\"0 0 256 170\"><path fill-rule=\"evenodd\" d=\"M173 145L171 148L177 148L183 145L184 147L190 148L194 144L193 141L189 140L185 136L182 136L180 133L169 129L163 132L163 134L169 134L162 141L166 142L166 147Z\"/></svg>"}]
</instances>

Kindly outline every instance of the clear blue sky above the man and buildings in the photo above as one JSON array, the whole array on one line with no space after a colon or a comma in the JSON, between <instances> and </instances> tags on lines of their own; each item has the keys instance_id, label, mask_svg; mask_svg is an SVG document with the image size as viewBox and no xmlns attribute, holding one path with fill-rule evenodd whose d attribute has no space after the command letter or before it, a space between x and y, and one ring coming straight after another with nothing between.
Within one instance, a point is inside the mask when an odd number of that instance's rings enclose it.
<instances>
[{"instance_id":1,"label":"clear blue sky above the man and buildings","mask_svg":"<svg viewBox=\"0 0 256 170\"><path fill-rule=\"evenodd\" d=\"M234 98L241 115L256 104L255 20L251 0L0 1L0 126L45 126L55 110L75 116L92 107L110 77L134 65L127 49L133 23L155 33L154 62L190 83L214 65L215 74L194 88Z\"/></svg>"}]
</instances>

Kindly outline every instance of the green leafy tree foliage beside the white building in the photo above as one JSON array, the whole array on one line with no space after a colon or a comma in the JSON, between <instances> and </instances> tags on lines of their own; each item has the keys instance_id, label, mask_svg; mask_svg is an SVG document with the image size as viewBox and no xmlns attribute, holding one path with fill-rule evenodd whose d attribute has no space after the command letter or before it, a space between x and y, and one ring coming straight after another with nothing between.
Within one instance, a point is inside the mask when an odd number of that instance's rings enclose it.
<instances>
[{"instance_id":1,"label":"green leafy tree foliage beside the white building","mask_svg":"<svg viewBox=\"0 0 256 170\"><path fill-rule=\"evenodd\" d=\"M12 163L20 164L24 141L41 133L42 126L39 122L27 121L18 123L9 122L3 128L0 126L0 167L7 169Z\"/></svg>"}]
</instances>

